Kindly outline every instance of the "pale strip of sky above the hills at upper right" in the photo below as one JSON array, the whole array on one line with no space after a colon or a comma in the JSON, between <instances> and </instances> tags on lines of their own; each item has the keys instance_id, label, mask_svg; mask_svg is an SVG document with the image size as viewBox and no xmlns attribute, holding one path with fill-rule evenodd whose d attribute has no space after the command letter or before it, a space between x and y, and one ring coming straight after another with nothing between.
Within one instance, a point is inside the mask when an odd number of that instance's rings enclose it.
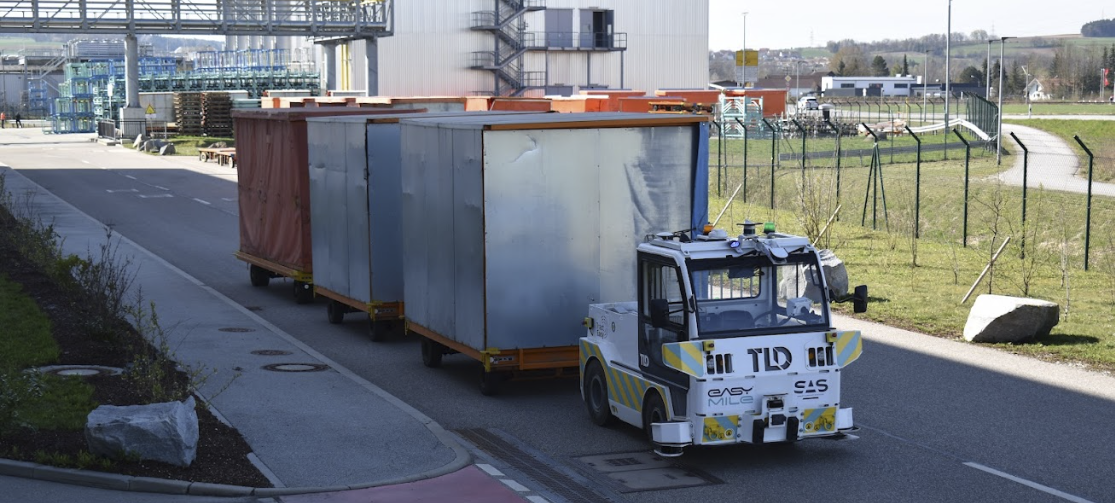
<instances>
[{"instance_id":1,"label":"pale strip of sky above the hills at upper right","mask_svg":"<svg viewBox=\"0 0 1115 503\"><path fill-rule=\"evenodd\" d=\"M794 49L824 46L830 40L866 42L920 38L948 31L950 0L920 2L834 2L709 0L710 50L738 50L744 43L747 11L749 49ZM956 0L952 32L1006 37L1079 33L1088 21L1115 18L1115 2L1105 0Z\"/></svg>"}]
</instances>

